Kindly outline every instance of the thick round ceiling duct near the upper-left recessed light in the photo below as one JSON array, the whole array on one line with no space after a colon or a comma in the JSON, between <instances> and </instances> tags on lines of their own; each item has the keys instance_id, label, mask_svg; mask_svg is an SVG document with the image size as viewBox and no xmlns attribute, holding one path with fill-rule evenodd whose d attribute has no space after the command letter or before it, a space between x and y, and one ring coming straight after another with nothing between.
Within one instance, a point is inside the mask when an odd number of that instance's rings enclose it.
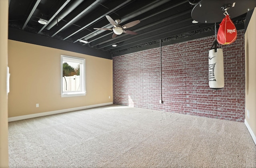
<instances>
[{"instance_id":1,"label":"thick round ceiling duct near the upper-left recessed light","mask_svg":"<svg viewBox=\"0 0 256 168\"><path fill-rule=\"evenodd\" d=\"M74 4L72 4L69 8L67 8L62 14L58 16L58 18L55 18L46 26L47 30L50 30L53 26L55 26L60 20L65 18L70 12L72 12L78 5L80 5L84 0L76 0L74 1Z\"/></svg>"}]
</instances>

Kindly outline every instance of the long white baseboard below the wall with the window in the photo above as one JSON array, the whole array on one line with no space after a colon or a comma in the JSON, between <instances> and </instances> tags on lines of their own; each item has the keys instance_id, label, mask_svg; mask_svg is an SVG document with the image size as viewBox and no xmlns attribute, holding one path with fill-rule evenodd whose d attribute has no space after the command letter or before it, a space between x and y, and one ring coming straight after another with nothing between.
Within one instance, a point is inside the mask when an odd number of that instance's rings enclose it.
<instances>
[{"instance_id":1,"label":"long white baseboard below the wall with the window","mask_svg":"<svg viewBox=\"0 0 256 168\"><path fill-rule=\"evenodd\" d=\"M42 117L42 116L46 116L46 115L66 113L66 112L76 111L76 110L90 109L90 108L93 108L93 107L100 107L100 106L106 106L106 105L112 105L112 104L113 104L113 102L102 103L102 104L97 104L97 105L75 107L75 108L71 108L71 109L63 109L63 110L49 111L49 112L44 112L44 113L36 113L36 114L31 114L31 115L22 115L22 116L17 116L17 117L9 117L8 122L24 120L24 119L31 119L31 118L35 118L35 117Z\"/></svg>"}]
</instances>

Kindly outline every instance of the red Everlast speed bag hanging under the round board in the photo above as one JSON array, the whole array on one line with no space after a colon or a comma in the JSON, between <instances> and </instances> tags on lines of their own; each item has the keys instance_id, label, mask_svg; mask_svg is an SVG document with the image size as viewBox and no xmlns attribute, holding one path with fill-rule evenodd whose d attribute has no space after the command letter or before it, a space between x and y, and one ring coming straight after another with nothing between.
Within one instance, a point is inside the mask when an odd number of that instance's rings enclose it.
<instances>
[{"instance_id":1,"label":"red Everlast speed bag hanging under the round board","mask_svg":"<svg viewBox=\"0 0 256 168\"><path fill-rule=\"evenodd\" d=\"M236 26L230 19L229 15L222 20L217 34L217 41L222 45L231 44L236 40Z\"/></svg>"}]
</instances>

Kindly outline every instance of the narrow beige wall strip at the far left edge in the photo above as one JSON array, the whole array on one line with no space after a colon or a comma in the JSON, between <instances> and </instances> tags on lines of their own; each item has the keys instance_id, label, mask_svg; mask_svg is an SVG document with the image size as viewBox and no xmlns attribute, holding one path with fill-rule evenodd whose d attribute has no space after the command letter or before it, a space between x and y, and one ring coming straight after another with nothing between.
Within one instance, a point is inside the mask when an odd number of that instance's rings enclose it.
<instances>
[{"instance_id":1,"label":"narrow beige wall strip at the far left edge","mask_svg":"<svg viewBox=\"0 0 256 168\"><path fill-rule=\"evenodd\" d=\"M8 0L0 0L0 168L8 167Z\"/></svg>"}]
</instances>

